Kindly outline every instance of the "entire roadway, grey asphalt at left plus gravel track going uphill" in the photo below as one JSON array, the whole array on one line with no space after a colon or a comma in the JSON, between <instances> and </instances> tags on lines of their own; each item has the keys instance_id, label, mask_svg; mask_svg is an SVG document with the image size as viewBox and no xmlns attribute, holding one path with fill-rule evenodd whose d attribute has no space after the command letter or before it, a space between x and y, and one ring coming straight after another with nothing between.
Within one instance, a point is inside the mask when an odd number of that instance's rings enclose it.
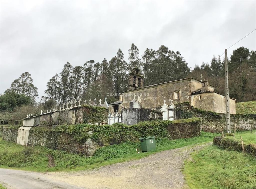
<instances>
[{"instance_id":1,"label":"entire roadway, grey asphalt at left plus gravel track going uphill","mask_svg":"<svg viewBox=\"0 0 256 189\"><path fill-rule=\"evenodd\" d=\"M1 182L13 188L188 188L181 172L191 152L208 144L152 154L143 159L101 167L93 171L36 173L0 169Z\"/></svg>"}]
</instances>

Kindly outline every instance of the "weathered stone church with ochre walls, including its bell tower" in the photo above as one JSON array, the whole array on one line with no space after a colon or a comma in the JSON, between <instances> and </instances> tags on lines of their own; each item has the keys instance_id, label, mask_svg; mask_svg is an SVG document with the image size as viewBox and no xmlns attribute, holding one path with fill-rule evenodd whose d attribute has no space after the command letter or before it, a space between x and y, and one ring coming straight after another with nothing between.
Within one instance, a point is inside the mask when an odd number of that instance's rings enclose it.
<instances>
[{"instance_id":1,"label":"weathered stone church with ochre walls, including its bell tower","mask_svg":"<svg viewBox=\"0 0 256 189\"><path fill-rule=\"evenodd\" d=\"M179 79L143 86L139 69L129 73L128 90L120 94L120 101L109 104L109 113L121 109L145 108L161 110L163 104L189 102L195 108L226 113L226 97L215 92L208 81L193 78ZM236 114L236 99L229 98L230 113Z\"/></svg>"}]
</instances>

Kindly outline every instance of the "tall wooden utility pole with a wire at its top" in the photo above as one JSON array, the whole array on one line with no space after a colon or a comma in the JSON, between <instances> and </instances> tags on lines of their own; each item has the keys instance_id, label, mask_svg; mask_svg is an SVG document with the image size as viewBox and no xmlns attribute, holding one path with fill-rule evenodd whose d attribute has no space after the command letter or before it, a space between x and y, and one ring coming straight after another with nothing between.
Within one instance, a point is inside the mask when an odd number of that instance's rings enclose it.
<instances>
[{"instance_id":1,"label":"tall wooden utility pole with a wire at its top","mask_svg":"<svg viewBox=\"0 0 256 189\"><path fill-rule=\"evenodd\" d=\"M227 129L227 133L231 133L230 108L229 108L229 90L228 90L228 55L227 55L227 49L225 49L225 83L226 83L226 129Z\"/></svg>"}]
</instances>

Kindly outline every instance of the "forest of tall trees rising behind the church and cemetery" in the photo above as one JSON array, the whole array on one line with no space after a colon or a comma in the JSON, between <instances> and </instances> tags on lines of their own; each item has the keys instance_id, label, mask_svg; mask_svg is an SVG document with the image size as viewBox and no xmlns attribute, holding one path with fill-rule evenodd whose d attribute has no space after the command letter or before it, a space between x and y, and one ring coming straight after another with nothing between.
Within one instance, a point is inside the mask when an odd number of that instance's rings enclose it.
<instances>
[{"instance_id":1,"label":"forest of tall trees rising behind the church and cemetery","mask_svg":"<svg viewBox=\"0 0 256 189\"><path fill-rule=\"evenodd\" d=\"M255 100L255 62L255 51L246 47L234 50L228 60L229 96L236 98L236 102ZM128 62L121 49L109 61L104 58L101 63L88 60L73 67L67 62L62 71L47 82L46 95L40 98L40 102L36 100L38 89L30 73L23 73L0 96L1 121L22 119L28 112L61 107L70 100L81 98L82 102L88 102L94 98L104 99L106 93L121 93L127 90L128 73L132 68L141 69L144 86L183 78L200 80L202 74L203 79L217 87L217 93L225 95L224 57L214 55L210 63L203 62L192 69L179 51L174 52L162 45L157 50L147 48L140 55L137 46L132 44ZM109 103L117 100L119 96L108 97Z\"/></svg>"}]
</instances>

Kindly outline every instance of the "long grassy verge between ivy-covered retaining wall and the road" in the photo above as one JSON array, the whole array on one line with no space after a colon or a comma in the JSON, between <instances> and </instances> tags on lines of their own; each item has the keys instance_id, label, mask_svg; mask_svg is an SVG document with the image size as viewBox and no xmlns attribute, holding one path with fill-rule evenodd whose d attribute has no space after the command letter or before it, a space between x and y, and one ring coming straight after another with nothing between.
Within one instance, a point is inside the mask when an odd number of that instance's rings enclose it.
<instances>
[{"instance_id":1,"label":"long grassy verge between ivy-covered retaining wall and the road","mask_svg":"<svg viewBox=\"0 0 256 189\"><path fill-rule=\"evenodd\" d=\"M89 158L61 150L52 150L39 146L34 148L24 147L12 142L0 141L0 165L2 168L39 172L85 170L131 159L140 159L168 149L210 142L216 135L219 134L201 132L200 136L193 138L177 140L156 139L157 149L146 153L141 152L140 143L127 142L99 148L95 155ZM140 154L136 153L136 148L141 152ZM54 167L48 167L48 154L54 158Z\"/></svg>"}]
</instances>

